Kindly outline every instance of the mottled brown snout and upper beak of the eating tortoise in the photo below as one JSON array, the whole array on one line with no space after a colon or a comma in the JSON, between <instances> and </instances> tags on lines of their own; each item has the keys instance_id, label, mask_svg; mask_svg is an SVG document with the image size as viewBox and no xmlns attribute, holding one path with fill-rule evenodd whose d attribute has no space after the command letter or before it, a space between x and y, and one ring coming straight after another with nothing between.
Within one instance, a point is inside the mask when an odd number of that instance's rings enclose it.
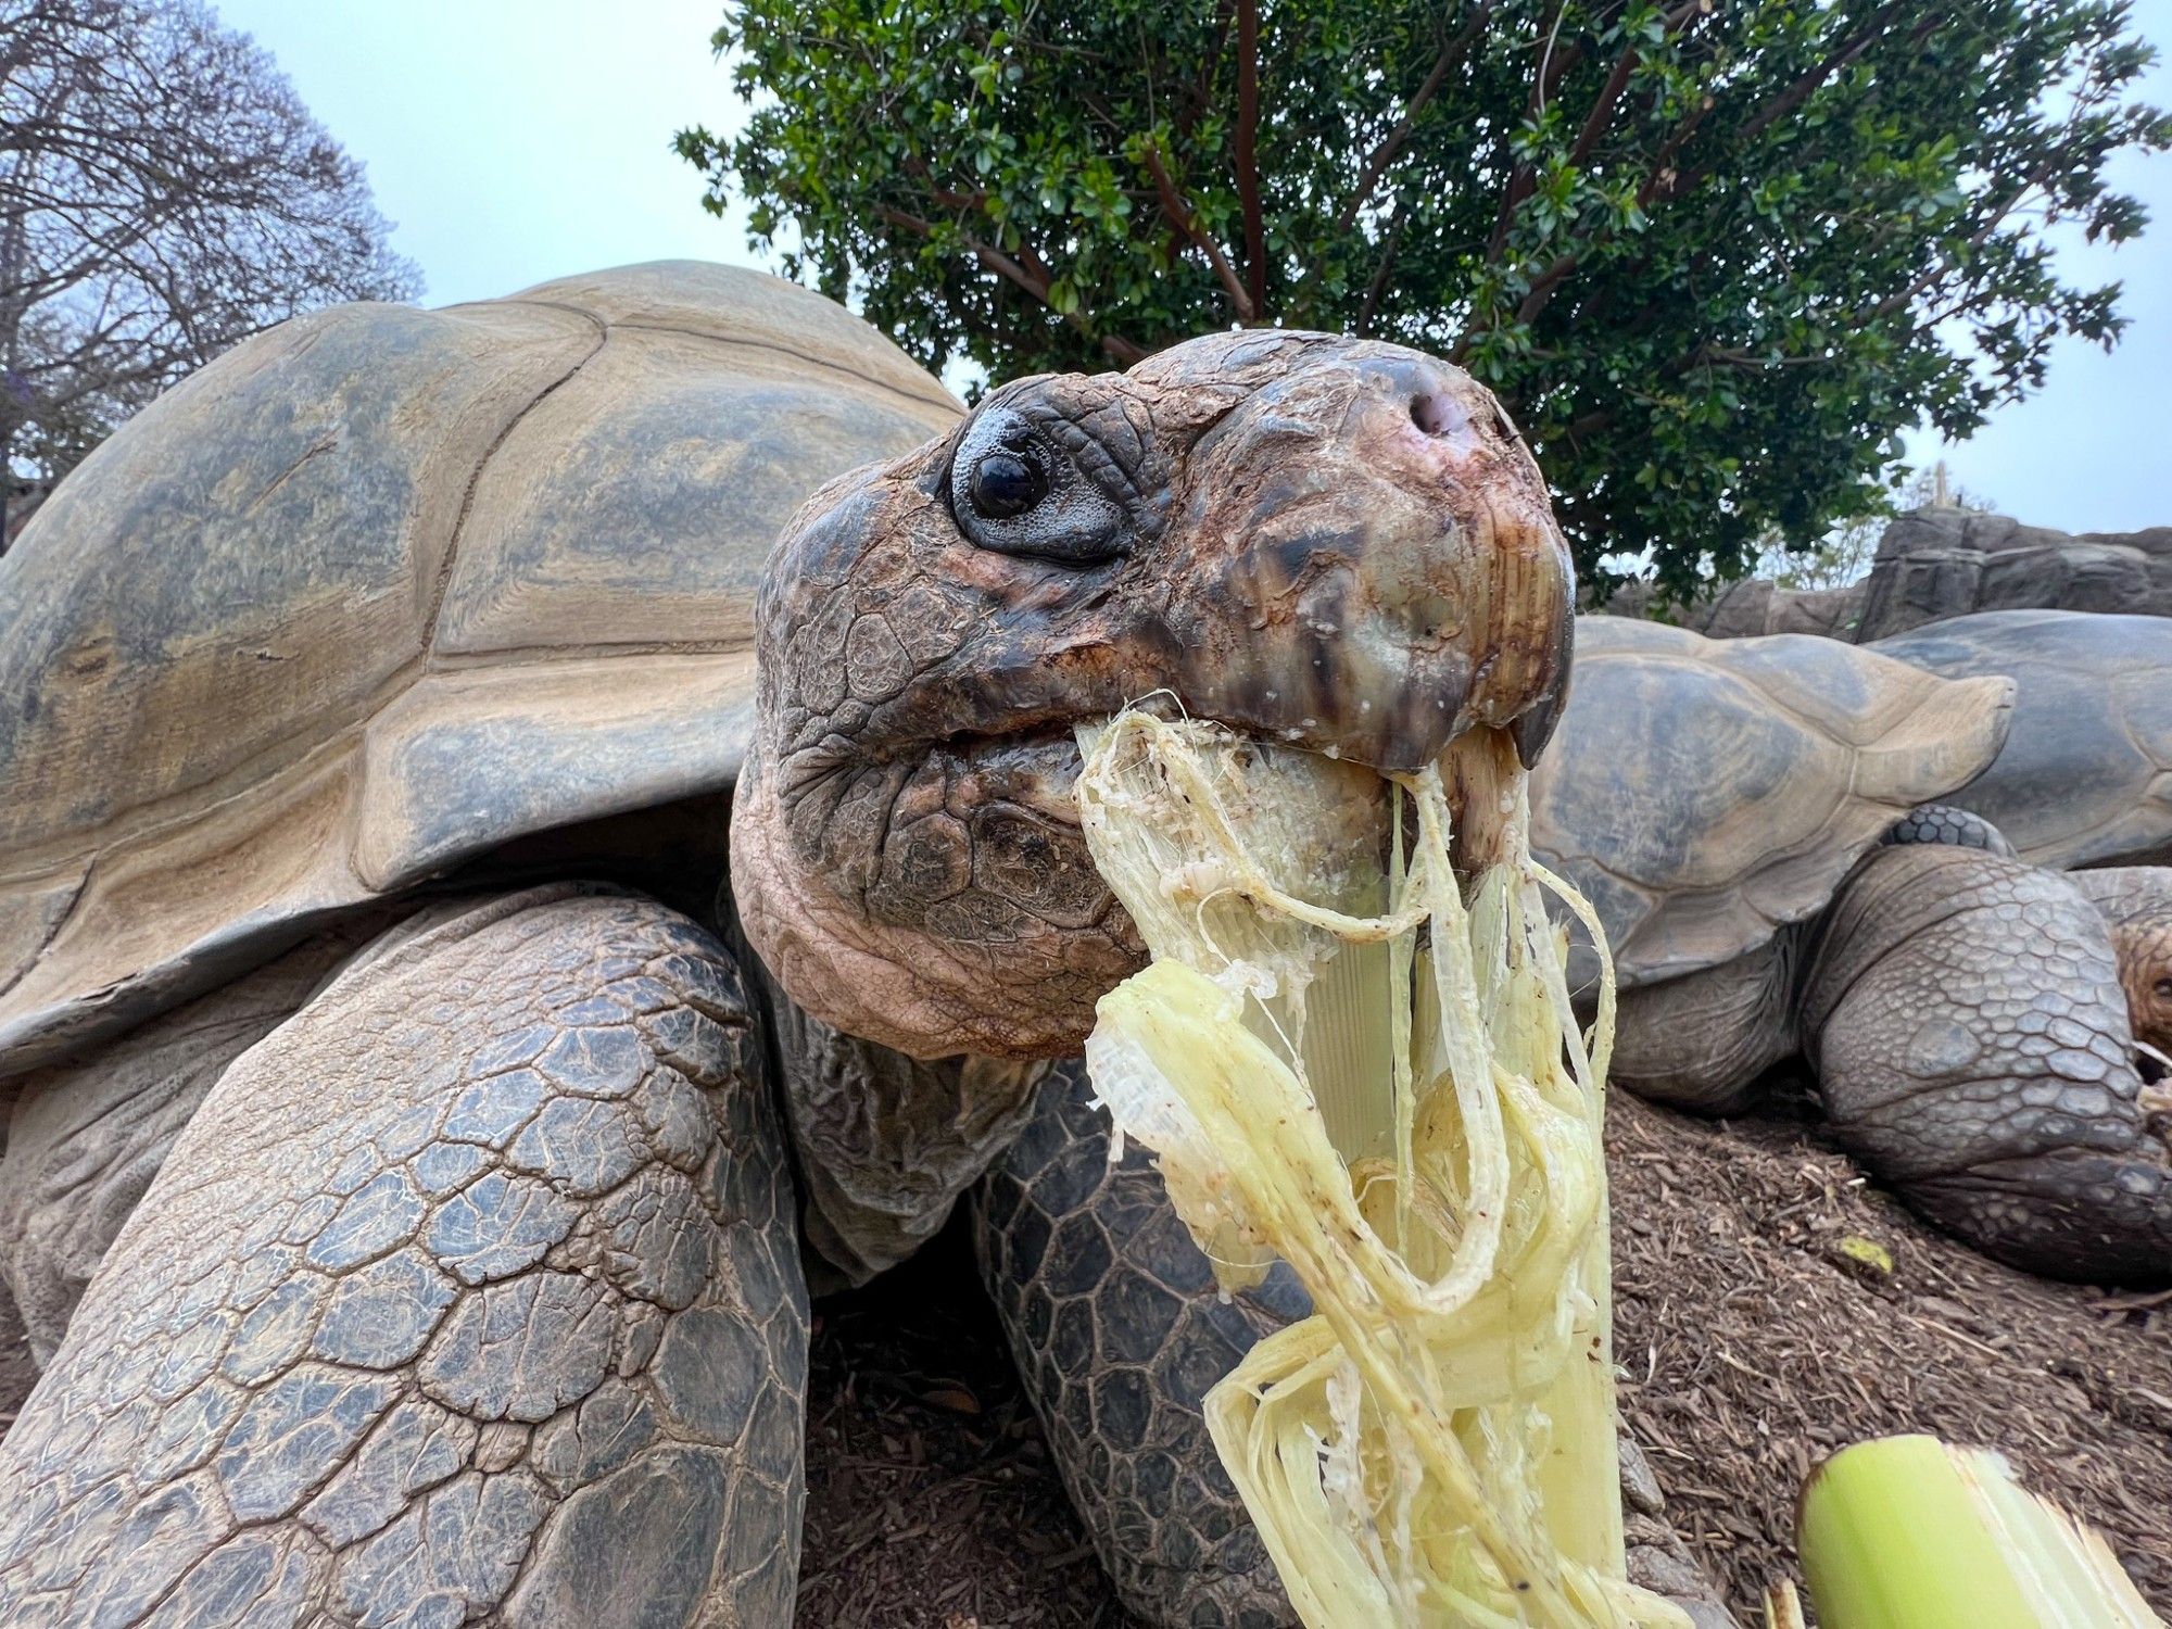
<instances>
[{"instance_id":1,"label":"mottled brown snout and upper beak of the eating tortoise","mask_svg":"<svg viewBox=\"0 0 2172 1629\"><path fill-rule=\"evenodd\" d=\"M1344 341L1201 439L1169 573L1173 686L1236 730L1410 773L1473 725L1529 767L1573 567L1538 465L1462 369Z\"/></svg>"}]
</instances>

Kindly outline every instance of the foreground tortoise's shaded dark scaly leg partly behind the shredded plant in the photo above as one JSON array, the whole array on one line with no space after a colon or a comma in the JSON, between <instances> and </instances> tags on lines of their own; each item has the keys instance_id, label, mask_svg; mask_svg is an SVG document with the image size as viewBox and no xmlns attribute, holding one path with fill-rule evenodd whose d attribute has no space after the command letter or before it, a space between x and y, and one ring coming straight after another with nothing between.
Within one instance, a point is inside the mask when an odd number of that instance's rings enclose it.
<instances>
[{"instance_id":1,"label":"foreground tortoise's shaded dark scaly leg partly behind the shredded plant","mask_svg":"<svg viewBox=\"0 0 2172 1629\"><path fill-rule=\"evenodd\" d=\"M973 1247L1071 1503L1151 1625L1295 1625L1199 1403L1251 1344L1312 1310L1277 1264L1221 1301L1136 1145L1108 1160L1082 1062L1040 1088L973 1197Z\"/></svg>"}]
</instances>

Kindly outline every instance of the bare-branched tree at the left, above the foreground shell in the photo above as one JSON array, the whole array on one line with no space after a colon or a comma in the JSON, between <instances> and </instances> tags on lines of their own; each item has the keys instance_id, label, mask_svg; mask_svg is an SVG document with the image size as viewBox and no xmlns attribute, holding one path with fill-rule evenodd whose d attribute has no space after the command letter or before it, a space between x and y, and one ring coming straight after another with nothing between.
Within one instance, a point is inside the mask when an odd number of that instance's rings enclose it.
<instances>
[{"instance_id":1,"label":"bare-branched tree at the left, above the foreground shell","mask_svg":"<svg viewBox=\"0 0 2172 1629\"><path fill-rule=\"evenodd\" d=\"M7 487L50 487L258 328L413 298L384 235L363 167L202 4L0 0Z\"/></svg>"}]
</instances>

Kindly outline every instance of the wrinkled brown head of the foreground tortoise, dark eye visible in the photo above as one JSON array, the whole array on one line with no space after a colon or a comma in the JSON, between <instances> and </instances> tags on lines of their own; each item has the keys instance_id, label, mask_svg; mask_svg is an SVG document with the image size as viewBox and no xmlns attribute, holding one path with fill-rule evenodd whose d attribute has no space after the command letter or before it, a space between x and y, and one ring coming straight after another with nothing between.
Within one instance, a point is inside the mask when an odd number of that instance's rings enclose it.
<instances>
[{"instance_id":1,"label":"wrinkled brown head of the foreground tortoise, dark eye visible","mask_svg":"<svg viewBox=\"0 0 2172 1629\"><path fill-rule=\"evenodd\" d=\"M1086 854L1073 725L1192 717L1410 771L1529 760L1573 573L1501 406L1447 363L1214 334L993 391L832 482L771 556L732 893L828 1023L921 1058L1073 1051L1145 951Z\"/></svg>"}]
</instances>

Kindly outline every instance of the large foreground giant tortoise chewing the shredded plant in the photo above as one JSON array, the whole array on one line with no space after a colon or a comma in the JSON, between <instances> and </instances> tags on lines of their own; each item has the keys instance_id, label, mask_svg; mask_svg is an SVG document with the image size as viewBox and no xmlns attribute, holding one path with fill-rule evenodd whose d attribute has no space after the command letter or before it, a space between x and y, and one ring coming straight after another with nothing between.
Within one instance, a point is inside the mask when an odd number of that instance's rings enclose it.
<instances>
[{"instance_id":1,"label":"large foreground giant tortoise chewing the shredded plant","mask_svg":"<svg viewBox=\"0 0 2172 1629\"><path fill-rule=\"evenodd\" d=\"M1529 758L1573 630L1536 465L1418 352L960 417L695 265L241 345L0 621L0 1620L741 1629L791 1618L808 1264L923 1240L1142 962L1073 723ZM1095 1542L1156 1620L1286 1620L1197 1401L1290 1286L1036 1160L982 1253Z\"/></svg>"}]
</instances>

